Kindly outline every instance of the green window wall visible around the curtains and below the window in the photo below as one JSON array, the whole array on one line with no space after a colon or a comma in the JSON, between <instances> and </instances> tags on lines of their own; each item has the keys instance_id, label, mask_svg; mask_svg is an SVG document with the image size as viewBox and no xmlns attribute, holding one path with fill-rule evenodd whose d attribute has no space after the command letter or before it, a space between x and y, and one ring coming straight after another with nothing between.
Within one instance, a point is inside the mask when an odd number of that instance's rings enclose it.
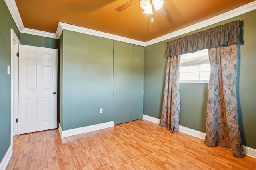
<instances>
[{"instance_id":1,"label":"green window wall visible around the curtains and below the window","mask_svg":"<svg viewBox=\"0 0 256 170\"><path fill-rule=\"evenodd\" d=\"M243 145L256 149L256 10L208 27L169 39L173 40L234 20L243 21L244 44L240 46L238 67L238 118ZM166 72L166 42L144 48L144 114L160 119L164 75ZM208 84L180 84L180 125L205 132Z\"/></svg>"}]
</instances>

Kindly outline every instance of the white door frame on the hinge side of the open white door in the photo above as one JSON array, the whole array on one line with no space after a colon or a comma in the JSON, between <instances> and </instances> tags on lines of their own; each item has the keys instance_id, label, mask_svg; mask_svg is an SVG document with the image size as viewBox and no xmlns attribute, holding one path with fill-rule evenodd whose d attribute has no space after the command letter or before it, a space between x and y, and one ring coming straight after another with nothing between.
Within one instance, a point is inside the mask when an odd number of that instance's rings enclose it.
<instances>
[{"instance_id":1,"label":"white door frame on the hinge side of the open white door","mask_svg":"<svg viewBox=\"0 0 256 170\"><path fill-rule=\"evenodd\" d=\"M18 123L16 123L16 118L18 118L18 62L14 57L17 57L15 54L18 52L18 44L20 40L17 35L11 29L11 145L13 136L18 134Z\"/></svg>"}]
</instances>

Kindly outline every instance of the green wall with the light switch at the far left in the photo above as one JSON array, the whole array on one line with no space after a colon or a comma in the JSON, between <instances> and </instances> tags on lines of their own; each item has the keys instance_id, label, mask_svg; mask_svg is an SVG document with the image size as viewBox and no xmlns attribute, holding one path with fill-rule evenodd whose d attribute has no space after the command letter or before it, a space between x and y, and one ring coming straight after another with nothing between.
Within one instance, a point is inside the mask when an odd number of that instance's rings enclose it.
<instances>
[{"instance_id":1,"label":"green wall with the light switch at the far left","mask_svg":"<svg viewBox=\"0 0 256 170\"><path fill-rule=\"evenodd\" d=\"M11 144L11 28L19 37L19 31L4 2L0 1L0 162Z\"/></svg>"}]
</instances>

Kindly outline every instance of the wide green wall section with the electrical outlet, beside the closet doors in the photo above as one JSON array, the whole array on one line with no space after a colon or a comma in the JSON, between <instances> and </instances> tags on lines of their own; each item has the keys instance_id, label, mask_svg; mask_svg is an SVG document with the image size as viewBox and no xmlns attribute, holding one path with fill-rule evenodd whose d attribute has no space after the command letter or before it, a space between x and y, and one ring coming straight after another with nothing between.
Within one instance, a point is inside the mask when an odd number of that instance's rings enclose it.
<instances>
[{"instance_id":1,"label":"wide green wall section with the electrical outlet, beside the closet doors","mask_svg":"<svg viewBox=\"0 0 256 170\"><path fill-rule=\"evenodd\" d=\"M62 41L62 129L113 121L113 40L63 30Z\"/></svg>"}]
</instances>

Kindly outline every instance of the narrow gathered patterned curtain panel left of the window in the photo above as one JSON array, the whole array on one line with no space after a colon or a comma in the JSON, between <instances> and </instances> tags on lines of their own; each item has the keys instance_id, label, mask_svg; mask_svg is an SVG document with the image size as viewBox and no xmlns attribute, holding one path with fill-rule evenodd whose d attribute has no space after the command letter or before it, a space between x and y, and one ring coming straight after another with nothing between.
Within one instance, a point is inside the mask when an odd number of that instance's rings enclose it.
<instances>
[{"instance_id":1,"label":"narrow gathered patterned curtain panel left of the window","mask_svg":"<svg viewBox=\"0 0 256 170\"><path fill-rule=\"evenodd\" d=\"M167 58L166 79L164 87L164 101L159 125L168 130L179 131L180 117L180 57Z\"/></svg>"}]
</instances>

